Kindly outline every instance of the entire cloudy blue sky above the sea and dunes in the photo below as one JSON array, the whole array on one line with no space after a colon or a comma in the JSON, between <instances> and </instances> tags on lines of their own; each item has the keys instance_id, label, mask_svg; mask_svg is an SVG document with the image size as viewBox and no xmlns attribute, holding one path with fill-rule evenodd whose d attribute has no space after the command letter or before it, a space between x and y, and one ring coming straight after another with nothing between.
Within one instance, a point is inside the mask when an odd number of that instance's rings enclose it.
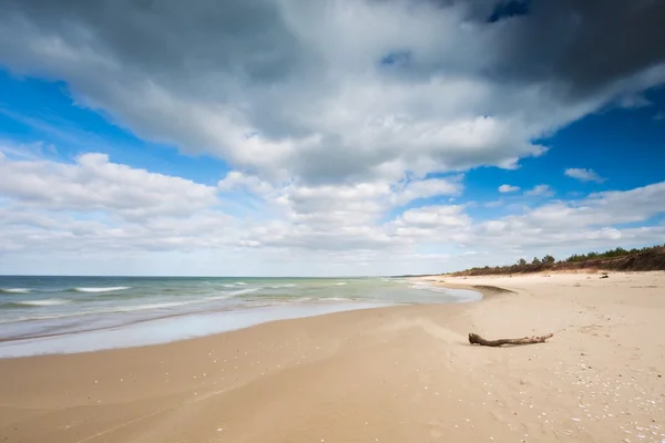
<instances>
[{"instance_id":1,"label":"entire cloudy blue sky above the sea and dunes","mask_svg":"<svg viewBox=\"0 0 665 443\"><path fill-rule=\"evenodd\" d=\"M0 274L665 243L665 3L0 0Z\"/></svg>"}]
</instances>

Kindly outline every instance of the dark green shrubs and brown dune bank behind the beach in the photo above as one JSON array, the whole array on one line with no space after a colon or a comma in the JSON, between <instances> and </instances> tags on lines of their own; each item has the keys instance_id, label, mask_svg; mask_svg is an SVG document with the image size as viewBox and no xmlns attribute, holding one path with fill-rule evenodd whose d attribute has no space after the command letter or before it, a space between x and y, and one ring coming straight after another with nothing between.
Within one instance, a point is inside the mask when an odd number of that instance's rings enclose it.
<instances>
[{"instance_id":1,"label":"dark green shrubs and brown dune bank behind the beach","mask_svg":"<svg viewBox=\"0 0 665 443\"><path fill-rule=\"evenodd\" d=\"M622 247L604 253L574 254L565 259L556 260L548 254L543 258L533 257L531 262L520 258L511 266L484 266L471 268L453 276L485 276L503 274L526 274L548 270L571 269L608 269L608 270L665 270L665 244L644 248L624 249Z\"/></svg>"}]
</instances>

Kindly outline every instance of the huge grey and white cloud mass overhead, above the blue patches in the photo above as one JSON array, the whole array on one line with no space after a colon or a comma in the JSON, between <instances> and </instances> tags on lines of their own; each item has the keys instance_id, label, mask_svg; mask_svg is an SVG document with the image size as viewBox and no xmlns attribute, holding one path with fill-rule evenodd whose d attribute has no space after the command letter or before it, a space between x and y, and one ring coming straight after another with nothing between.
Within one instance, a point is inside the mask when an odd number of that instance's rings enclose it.
<instances>
[{"instance_id":1,"label":"huge grey and white cloud mass overhead, above the blue patches","mask_svg":"<svg viewBox=\"0 0 665 443\"><path fill-rule=\"evenodd\" d=\"M462 1L155 4L6 0L0 60L143 138L310 185L512 168L546 151L533 140L665 80L637 31L661 32L645 0L495 22ZM630 31L608 56L596 37L615 25Z\"/></svg>"}]
</instances>

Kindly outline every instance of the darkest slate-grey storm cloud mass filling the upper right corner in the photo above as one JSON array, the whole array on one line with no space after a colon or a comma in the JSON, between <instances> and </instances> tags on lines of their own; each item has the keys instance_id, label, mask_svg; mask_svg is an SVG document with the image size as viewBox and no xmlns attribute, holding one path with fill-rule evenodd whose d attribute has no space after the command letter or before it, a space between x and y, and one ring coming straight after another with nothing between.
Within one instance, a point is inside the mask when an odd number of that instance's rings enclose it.
<instances>
[{"instance_id":1,"label":"darkest slate-grey storm cloud mass filling the upper right corner","mask_svg":"<svg viewBox=\"0 0 665 443\"><path fill-rule=\"evenodd\" d=\"M516 2L499 4L508 3ZM521 3L522 9L511 7L521 13L489 23L503 27L495 75L512 81L551 79L573 96L584 96L665 62L663 0Z\"/></svg>"}]
</instances>

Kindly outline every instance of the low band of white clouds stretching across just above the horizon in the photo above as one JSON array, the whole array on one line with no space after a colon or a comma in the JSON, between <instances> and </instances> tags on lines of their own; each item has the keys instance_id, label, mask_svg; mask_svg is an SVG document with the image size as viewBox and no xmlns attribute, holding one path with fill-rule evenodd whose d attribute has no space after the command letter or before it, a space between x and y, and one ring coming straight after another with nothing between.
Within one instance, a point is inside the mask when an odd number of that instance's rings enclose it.
<instances>
[{"instance_id":1,"label":"low band of white clouds stretching across just above the horizon","mask_svg":"<svg viewBox=\"0 0 665 443\"><path fill-rule=\"evenodd\" d=\"M470 204L398 209L412 198L458 192L458 177L315 186L231 173L213 187L99 155L74 164L1 157L0 166L8 178L0 187L0 253L12 257L1 264L3 272L30 270L34 262L60 271L64 264L81 269L106 264L121 274L150 274L152 266L157 274L428 272L656 243L665 234L665 225L649 226L665 214L665 183L475 219ZM81 197L81 187L95 192ZM258 210L242 216L221 210L246 196L259 203ZM177 204L164 210L164 199ZM424 258L434 256L432 262ZM212 264L198 264L202 257ZM250 268L232 265L237 260Z\"/></svg>"}]
</instances>

